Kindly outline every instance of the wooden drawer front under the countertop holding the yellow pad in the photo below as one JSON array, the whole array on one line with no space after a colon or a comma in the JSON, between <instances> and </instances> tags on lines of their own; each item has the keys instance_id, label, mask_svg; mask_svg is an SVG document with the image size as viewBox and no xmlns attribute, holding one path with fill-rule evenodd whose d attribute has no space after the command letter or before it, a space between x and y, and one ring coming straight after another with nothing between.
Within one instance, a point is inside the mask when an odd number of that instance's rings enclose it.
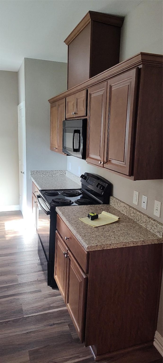
<instances>
[{"instance_id":1,"label":"wooden drawer front under the countertop holding the yellow pad","mask_svg":"<svg viewBox=\"0 0 163 363\"><path fill-rule=\"evenodd\" d=\"M85 273L88 272L89 267L89 254L81 246L80 242L76 239L70 229L66 226L61 217L57 215L57 231L61 234L66 245L73 253L74 257L80 264ZM65 238L66 237L66 238Z\"/></svg>"}]
</instances>

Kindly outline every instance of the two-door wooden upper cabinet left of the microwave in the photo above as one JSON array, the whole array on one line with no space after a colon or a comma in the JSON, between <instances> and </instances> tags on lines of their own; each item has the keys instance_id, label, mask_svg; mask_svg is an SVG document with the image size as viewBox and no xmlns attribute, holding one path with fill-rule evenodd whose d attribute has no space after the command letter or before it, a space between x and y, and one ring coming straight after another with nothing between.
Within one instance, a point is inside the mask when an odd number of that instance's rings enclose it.
<instances>
[{"instance_id":1,"label":"two-door wooden upper cabinet left of the microwave","mask_svg":"<svg viewBox=\"0 0 163 363\"><path fill-rule=\"evenodd\" d=\"M65 120L65 98L50 104L50 150L62 152L63 121Z\"/></svg>"}]
</instances>

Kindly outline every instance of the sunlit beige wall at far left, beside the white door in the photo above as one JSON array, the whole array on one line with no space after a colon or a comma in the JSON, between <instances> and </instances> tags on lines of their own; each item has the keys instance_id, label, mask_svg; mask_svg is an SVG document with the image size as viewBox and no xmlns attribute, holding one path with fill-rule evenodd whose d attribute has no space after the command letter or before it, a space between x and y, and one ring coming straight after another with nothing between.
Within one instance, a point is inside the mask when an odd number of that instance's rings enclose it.
<instances>
[{"instance_id":1,"label":"sunlit beige wall at far left, beside the white door","mask_svg":"<svg viewBox=\"0 0 163 363\"><path fill-rule=\"evenodd\" d=\"M0 210L19 205L17 72L0 71Z\"/></svg>"}]
</instances>

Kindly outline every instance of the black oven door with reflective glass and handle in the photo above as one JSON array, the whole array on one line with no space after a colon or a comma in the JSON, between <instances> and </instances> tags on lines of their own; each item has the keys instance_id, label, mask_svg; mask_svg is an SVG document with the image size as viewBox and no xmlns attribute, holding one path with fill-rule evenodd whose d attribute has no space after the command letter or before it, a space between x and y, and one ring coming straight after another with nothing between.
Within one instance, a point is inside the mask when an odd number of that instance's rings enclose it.
<instances>
[{"instance_id":1,"label":"black oven door with reflective glass and handle","mask_svg":"<svg viewBox=\"0 0 163 363\"><path fill-rule=\"evenodd\" d=\"M40 238L46 260L49 260L49 236L50 236L50 210L42 199L37 195L38 216L37 216L37 233Z\"/></svg>"}]
</instances>

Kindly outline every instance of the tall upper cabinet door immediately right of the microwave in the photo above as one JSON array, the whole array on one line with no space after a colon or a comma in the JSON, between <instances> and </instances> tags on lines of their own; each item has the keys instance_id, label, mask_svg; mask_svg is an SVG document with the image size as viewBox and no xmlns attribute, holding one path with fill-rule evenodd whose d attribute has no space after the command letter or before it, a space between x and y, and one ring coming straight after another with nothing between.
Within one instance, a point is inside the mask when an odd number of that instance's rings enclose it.
<instances>
[{"instance_id":1,"label":"tall upper cabinet door immediately right of the microwave","mask_svg":"<svg viewBox=\"0 0 163 363\"><path fill-rule=\"evenodd\" d=\"M88 89L86 161L103 167L107 82Z\"/></svg>"}]
</instances>

